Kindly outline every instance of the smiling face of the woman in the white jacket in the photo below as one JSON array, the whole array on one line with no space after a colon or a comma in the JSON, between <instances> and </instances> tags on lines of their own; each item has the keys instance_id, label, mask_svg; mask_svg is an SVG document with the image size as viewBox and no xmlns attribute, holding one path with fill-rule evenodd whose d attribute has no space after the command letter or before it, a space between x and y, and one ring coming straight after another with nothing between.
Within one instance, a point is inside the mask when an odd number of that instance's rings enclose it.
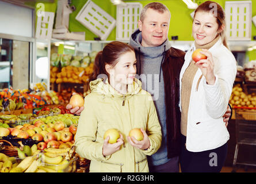
<instances>
[{"instance_id":1,"label":"smiling face of the woman in the white jacket","mask_svg":"<svg viewBox=\"0 0 256 184\"><path fill-rule=\"evenodd\" d=\"M217 36L219 25L217 18L207 11L197 11L194 16L192 34L198 45L205 45L214 40Z\"/></svg>"}]
</instances>

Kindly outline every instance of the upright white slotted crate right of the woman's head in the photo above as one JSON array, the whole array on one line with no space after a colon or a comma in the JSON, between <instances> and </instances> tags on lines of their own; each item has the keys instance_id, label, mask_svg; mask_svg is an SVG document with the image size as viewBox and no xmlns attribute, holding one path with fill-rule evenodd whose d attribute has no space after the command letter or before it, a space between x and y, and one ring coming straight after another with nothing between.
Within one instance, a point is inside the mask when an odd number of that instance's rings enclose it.
<instances>
[{"instance_id":1,"label":"upright white slotted crate right of the woman's head","mask_svg":"<svg viewBox=\"0 0 256 184\"><path fill-rule=\"evenodd\" d=\"M251 1L226 1L228 40L251 40Z\"/></svg>"}]
</instances>

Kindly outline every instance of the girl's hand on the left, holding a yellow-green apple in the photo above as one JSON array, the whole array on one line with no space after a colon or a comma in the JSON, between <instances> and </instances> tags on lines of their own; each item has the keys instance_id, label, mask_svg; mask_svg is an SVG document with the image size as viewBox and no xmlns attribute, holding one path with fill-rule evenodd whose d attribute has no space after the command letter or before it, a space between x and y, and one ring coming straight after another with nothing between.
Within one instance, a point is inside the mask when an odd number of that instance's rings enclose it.
<instances>
[{"instance_id":1,"label":"girl's hand on the left, holding a yellow-green apple","mask_svg":"<svg viewBox=\"0 0 256 184\"><path fill-rule=\"evenodd\" d=\"M116 151L119 151L120 150L120 146L122 144L124 144L124 139L123 139L123 135L120 134L120 138L117 139L117 142L116 143L113 143L113 144L110 144L108 143L109 141L109 136L106 137L106 139L104 140L104 143L103 143L103 148L102 148L102 154L104 156L108 156L108 155L111 155L113 154L114 152Z\"/></svg>"}]
</instances>

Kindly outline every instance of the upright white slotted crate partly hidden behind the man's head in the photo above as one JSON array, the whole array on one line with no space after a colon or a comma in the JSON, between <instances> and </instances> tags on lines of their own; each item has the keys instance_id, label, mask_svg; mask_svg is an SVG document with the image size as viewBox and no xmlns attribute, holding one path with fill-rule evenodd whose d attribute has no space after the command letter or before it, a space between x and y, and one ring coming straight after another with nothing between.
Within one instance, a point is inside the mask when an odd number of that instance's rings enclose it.
<instances>
[{"instance_id":1,"label":"upright white slotted crate partly hidden behind the man's head","mask_svg":"<svg viewBox=\"0 0 256 184\"><path fill-rule=\"evenodd\" d=\"M117 5L116 10L116 40L129 41L131 34L137 29L137 22L142 10L141 3L126 3Z\"/></svg>"}]
</instances>

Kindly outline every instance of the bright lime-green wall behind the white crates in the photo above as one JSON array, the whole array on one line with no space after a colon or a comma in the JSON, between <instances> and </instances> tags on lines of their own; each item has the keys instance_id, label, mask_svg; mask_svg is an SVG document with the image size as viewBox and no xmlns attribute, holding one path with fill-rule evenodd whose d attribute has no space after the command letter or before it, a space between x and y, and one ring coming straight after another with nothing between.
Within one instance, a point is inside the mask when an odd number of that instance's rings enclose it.
<instances>
[{"instance_id":1,"label":"bright lime-green wall behind the white crates","mask_svg":"<svg viewBox=\"0 0 256 184\"><path fill-rule=\"evenodd\" d=\"M116 6L113 5L110 0L92 0L95 4L100 6L103 10L109 13L113 18L116 19ZM206 0L196 0L198 4L205 2ZM219 3L222 7L225 6L225 2L230 0L215 0L215 2ZM239 1L239 0L232 0ZM252 15L256 15L256 0L252 1ZM56 11L56 2L55 3L45 3L45 11ZM94 37L97 37L94 33L90 32L89 29L85 28L80 22L75 20L75 17L82 9L83 5L87 0L72 0L71 5L75 5L77 8L73 13L70 14L70 31L71 32L85 32L86 40L94 40ZM150 2L161 2L166 5L171 12L171 21L170 21L170 29L169 29L169 39L171 36L178 36L178 40L193 40L192 37L192 18L190 17L190 13L193 10L190 10L186 7L185 3L182 0L162 0L162 1L128 1L128 2L140 2L143 6L147 5ZM253 36L256 36L256 27L252 24L251 29L252 39ZM109 34L107 40L115 40L116 39L116 28L112 30Z\"/></svg>"}]
</instances>

